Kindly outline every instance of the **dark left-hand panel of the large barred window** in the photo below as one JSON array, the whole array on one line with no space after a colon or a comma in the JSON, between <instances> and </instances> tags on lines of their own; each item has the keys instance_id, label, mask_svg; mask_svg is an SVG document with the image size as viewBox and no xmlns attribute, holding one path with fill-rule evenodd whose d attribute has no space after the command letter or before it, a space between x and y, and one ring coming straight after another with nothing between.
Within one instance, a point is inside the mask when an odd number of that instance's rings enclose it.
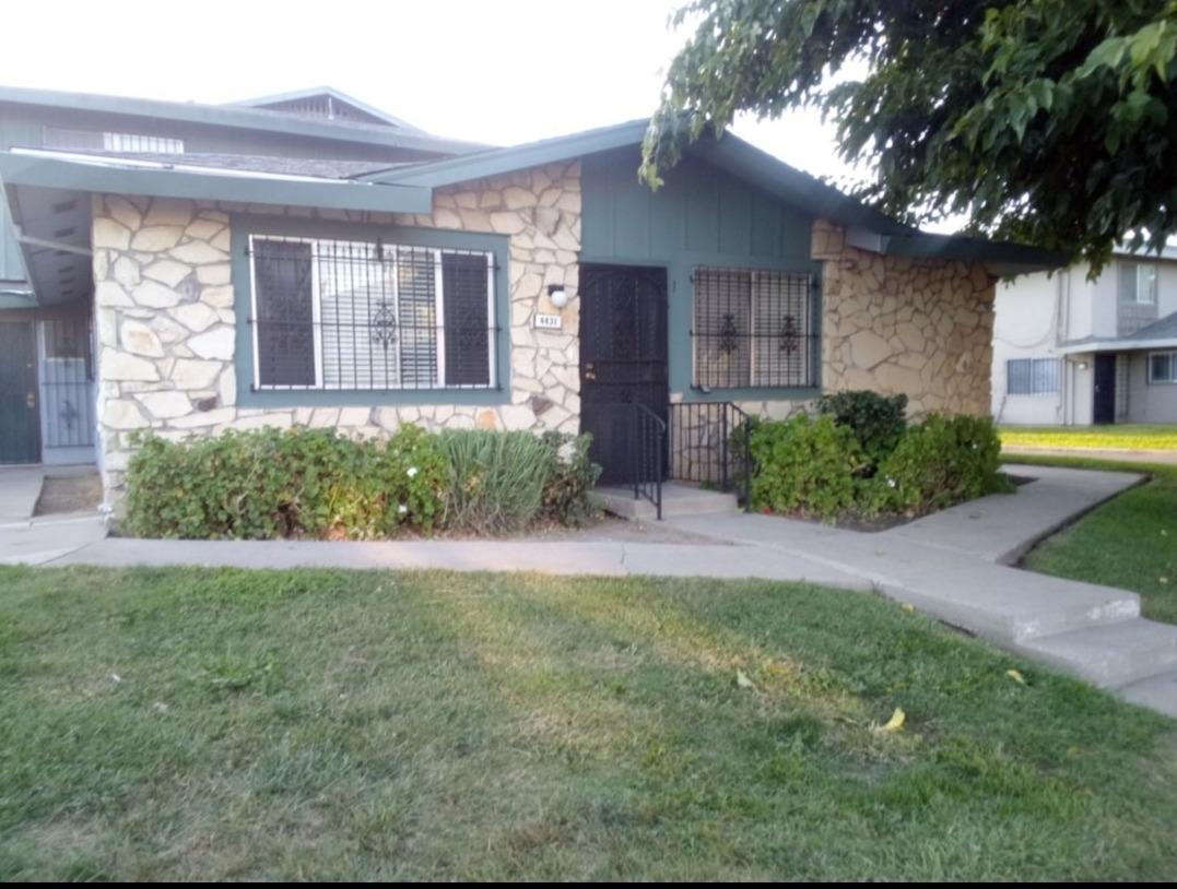
<instances>
[{"instance_id":1,"label":"dark left-hand panel of the large barred window","mask_svg":"<svg viewBox=\"0 0 1177 889\"><path fill-rule=\"evenodd\" d=\"M253 242L258 289L258 383L314 386L311 245Z\"/></svg>"}]
</instances>

